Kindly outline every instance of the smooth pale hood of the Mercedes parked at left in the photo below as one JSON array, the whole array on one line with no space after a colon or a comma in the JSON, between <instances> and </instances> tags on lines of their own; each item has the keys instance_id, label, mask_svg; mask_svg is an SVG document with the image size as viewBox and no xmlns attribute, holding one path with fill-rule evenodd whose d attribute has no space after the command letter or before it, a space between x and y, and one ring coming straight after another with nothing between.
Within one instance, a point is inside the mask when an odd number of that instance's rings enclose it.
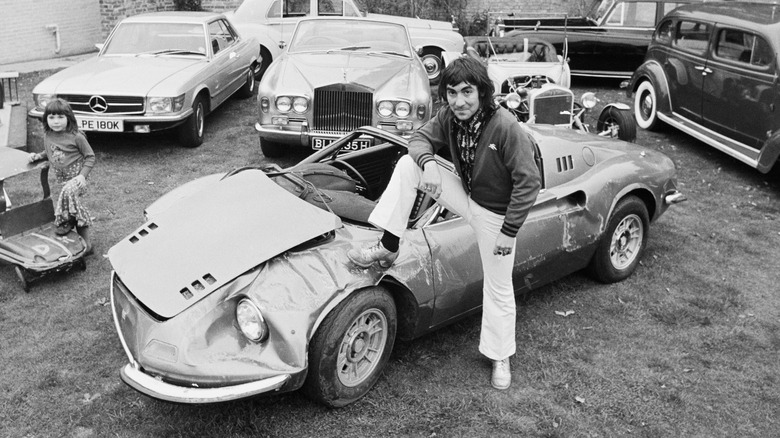
<instances>
[{"instance_id":1,"label":"smooth pale hood of the Mercedes parked at left","mask_svg":"<svg viewBox=\"0 0 780 438\"><path fill-rule=\"evenodd\" d=\"M146 96L170 76L205 62L205 57L98 56L45 79L40 90L59 94Z\"/></svg>"}]
</instances>

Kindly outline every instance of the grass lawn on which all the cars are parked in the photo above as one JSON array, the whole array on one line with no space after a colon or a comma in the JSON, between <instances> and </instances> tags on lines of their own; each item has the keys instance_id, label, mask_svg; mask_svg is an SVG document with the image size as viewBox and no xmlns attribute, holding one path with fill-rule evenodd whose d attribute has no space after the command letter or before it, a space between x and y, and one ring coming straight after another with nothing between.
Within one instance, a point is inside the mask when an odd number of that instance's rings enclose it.
<instances>
[{"instance_id":1,"label":"grass lawn on which all the cars are parked","mask_svg":"<svg viewBox=\"0 0 780 438\"><path fill-rule=\"evenodd\" d=\"M23 75L22 97L50 73ZM628 102L614 82L574 89ZM231 99L207 119L197 149L168 135L89 135L96 253L87 270L25 294L0 264L0 437L777 436L780 178L672 129L640 130L637 143L675 161L688 201L651 226L629 279L604 285L577 274L518 297L509 390L490 387L478 315L397 343L377 386L342 409L299 393L185 406L125 386L103 254L168 190L265 162L255 114L253 99ZM37 121L30 133L40 150ZM22 196L37 184L8 181Z\"/></svg>"}]
</instances>

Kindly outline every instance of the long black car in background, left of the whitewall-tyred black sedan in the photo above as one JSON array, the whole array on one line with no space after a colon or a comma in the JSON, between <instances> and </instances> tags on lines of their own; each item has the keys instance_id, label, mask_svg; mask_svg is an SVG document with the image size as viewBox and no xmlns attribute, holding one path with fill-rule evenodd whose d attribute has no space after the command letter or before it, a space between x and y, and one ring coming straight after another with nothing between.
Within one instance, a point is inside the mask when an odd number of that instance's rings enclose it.
<instances>
[{"instance_id":1,"label":"long black car in background, left of the whitewall-tyred black sedan","mask_svg":"<svg viewBox=\"0 0 780 438\"><path fill-rule=\"evenodd\" d=\"M490 14L491 35L525 35L553 43L569 40L572 76L630 78L642 64L656 23L674 8L702 0L593 0L579 17Z\"/></svg>"}]
</instances>

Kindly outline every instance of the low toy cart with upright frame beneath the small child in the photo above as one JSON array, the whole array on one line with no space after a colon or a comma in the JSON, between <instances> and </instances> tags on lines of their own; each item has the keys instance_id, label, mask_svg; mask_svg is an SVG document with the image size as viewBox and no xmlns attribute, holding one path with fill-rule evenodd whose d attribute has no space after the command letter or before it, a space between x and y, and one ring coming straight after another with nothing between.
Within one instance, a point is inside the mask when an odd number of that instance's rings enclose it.
<instances>
[{"instance_id":1,"label":"low toy cart with upright frame beneath the small child","mask_svg":"<svg viewBox=\"0 0 780 438\"><path fill-rule=\"evenodd\" d=\"M4 180L40 169L43 199L10 207ZM32 164L28 154L12 148L0 148L0 261L15 266L25 292L30 283L44 275L82 270L87 245L75 231L55 233L54 203L50 197L49 164Z\"/></svg>"}]
</instances>

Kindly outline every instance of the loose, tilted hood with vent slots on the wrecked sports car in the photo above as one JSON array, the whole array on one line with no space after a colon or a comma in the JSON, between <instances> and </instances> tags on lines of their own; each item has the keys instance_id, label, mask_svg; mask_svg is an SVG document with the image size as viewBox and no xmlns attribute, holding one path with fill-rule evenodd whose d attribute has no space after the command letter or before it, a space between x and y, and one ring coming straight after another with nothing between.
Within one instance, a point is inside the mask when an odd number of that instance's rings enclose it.
<instances>
[{"instance_id":1,"label":"loose, tilted hood with vent slots on the wrecked sports car","mask_svg":"<svg viewBox=\"0 0 780 438\"><path fill-rule=\"evenodd\" d=\"M127 288L171 318L255 266L341 226L260 170L177 200L108 251Z\"/></svg>"}]
</instances>

